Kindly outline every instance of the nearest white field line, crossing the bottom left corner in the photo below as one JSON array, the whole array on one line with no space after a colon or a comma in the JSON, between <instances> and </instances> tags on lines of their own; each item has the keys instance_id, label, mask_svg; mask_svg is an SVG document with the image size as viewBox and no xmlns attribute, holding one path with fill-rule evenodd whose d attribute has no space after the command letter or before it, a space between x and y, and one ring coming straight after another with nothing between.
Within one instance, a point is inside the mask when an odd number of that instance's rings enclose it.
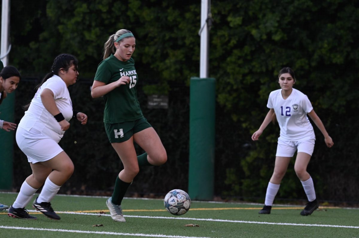
<instances>
[{"instance_id":1,"label":"nearest white field line, crossing the bottom left corner","mask_svg":"<svg viewBox=\"0 0 359 238\"><path fill-rule=\"evenodd\" d=\"M141 237L168 237L168 238L209 238L209 237L193 237L182 235L162 235L162 234L143 234L143 233L119 233L119 232L93 232L90 230L65 230L65 229L47 229L47 228L34 228L34 227L20 227L20 226L2 226L3 229L15 230L44 230L50 232L70 232L70 233L86 233L86 234L105 234L105 235L126 235L126 236L141 236Z\"/></svg>"}]
</instances>

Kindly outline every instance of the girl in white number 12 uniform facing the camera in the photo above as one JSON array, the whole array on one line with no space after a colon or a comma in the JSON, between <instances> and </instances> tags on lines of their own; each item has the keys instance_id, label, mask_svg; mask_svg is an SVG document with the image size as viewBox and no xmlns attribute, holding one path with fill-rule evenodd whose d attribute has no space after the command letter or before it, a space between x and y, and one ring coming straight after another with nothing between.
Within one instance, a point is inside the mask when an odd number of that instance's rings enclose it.
<instances>
[{"instance_id":1,"label":"girl in white number 12 uniform facing the camera","mask_svg":"<svg viewBox=\"0 0 359 238\"><path fill-rule=\"evenodd\" d=\"M334 143L322 121L314 112L308 97L293 88L293 84L295 84L294 71L289 67L283 68L280 70L278 78L281 89L269 94L267 104L269 112L258 131L252 135L253 141L258 140L271 122L272 117L276 116L280 127L280 136L278 138L274 171L267 187L264 207L259 213L270 214L280 182L285 175L290 159L297 151L294 170L300 182L302 182L309 201L300 212L300 215L307 216L311 215L319 207L312 177L307 172L307 166L313 154L315 143L313 127L307 115L310 116L322 132L326 145L332 147Z\"/></svg>"}]
</instances>

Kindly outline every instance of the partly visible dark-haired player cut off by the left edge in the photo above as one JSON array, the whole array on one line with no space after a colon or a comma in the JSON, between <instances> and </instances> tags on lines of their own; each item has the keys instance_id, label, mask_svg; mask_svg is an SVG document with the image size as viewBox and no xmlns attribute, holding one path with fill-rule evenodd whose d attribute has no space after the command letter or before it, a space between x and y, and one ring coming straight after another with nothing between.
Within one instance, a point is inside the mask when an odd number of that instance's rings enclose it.
<instances>
[{"instance_id":1,"label":"partly visible dark-haired player cut off by the left edge","mask_svg":"<svg viewBox=\"0 0 359 238\"><path fill-rule=\"evenodd\" d=\"M0 61L0 104L3 102L7 93L12 93L18 87L21 76L19 71L13 66L6 66L4 68L3 62ZM1 114L0 114L1 115ZM12 122L5 122L0 119L0 129L5 131L14 131L16 124ZM0 203L0 211L8 209L9 206L6 206Z\"/></svg>"}]
</instances>

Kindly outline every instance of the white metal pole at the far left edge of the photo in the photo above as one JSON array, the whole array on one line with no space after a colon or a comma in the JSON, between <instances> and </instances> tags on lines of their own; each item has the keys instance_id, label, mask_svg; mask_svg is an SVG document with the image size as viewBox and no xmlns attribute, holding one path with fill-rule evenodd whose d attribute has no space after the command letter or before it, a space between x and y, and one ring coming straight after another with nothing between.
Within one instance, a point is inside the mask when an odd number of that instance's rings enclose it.
<instances>
[{"instance_id":1,"label":"white metal pole at the far left edge of the photo","mask_svg":"<svg viewBox=\"0 0 359 238\"><path fill-rule=\"evenodd\" d=\"M3 0L1 8L1 61L8 65L9 48L10 0Z\"/></svg>"}]
</instances>

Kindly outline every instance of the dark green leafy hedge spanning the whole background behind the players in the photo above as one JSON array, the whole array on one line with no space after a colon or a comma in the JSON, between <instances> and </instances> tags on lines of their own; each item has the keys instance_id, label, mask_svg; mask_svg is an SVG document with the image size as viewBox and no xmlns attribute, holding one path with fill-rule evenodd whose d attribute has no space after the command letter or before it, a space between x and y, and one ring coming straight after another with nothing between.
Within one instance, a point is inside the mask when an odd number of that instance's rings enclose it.
<instances>
[{"instance_id":1,"label":"dark green leafy hedge spanning the whole background behind the players","mask_svg":"<svg viewBox=\"0 0 359 238\"><path fill-rule=\"evenodd\" d=\"M308 171L318 197L358 201L359 138L353 116L359 97L358 5L353 0L212 1L209 76L217 81L216 194L264 198L278 124L270 124L258 142L250 137L268 111L269 93L279 88L278 71L289 66L296 72L296 88L308 95L335 142L326 148L314 126L317 142ZM188 0L11 1L10 62L24 77L42 77L62 52L80 61L81 81L71 90L74 105L90 115L89 125L81 130L71 125L61 143L69 153L78 152L72 155L76 168L87 173L77 170L69 187L84 181L82 185L95 188L98 183L91 180L107 179L98 188L106 189L113 184L109 174L114 177L121 166L103 130L103 100L92 99L88 87L104 42L122 28L136 36L133 57L141 80L140 101L169 157L166 165L146 169L139 177L157 185L134 183L134 191L161 193L168 183L171 189L187 186L188 86L190 77L199 74L200 10L200 1ZM147 109L146 96L151 94L169 95L169 109ZM21 103L32 95L22 95ZM293 165L294 160L278 198L305 199ZM163 175L161 182L158 174Z\"/></svg>"}]
</instances>

